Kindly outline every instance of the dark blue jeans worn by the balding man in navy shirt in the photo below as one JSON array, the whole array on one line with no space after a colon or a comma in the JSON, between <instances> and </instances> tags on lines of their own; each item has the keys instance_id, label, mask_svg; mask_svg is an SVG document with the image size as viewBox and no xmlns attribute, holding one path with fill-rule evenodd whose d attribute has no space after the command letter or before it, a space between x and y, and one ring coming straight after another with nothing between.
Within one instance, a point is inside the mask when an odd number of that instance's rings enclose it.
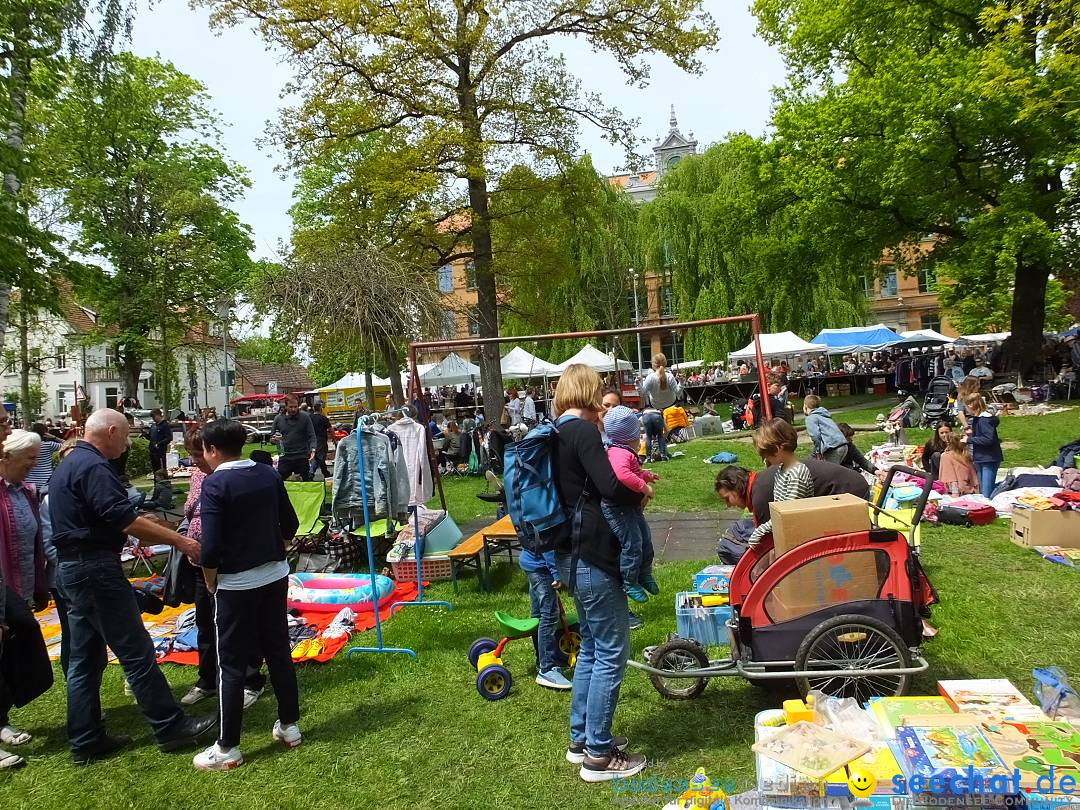
<instances>
[{"instance_id":1,"label":"dark blue jeans worn by the balding man in navy shirt","mask_svg":"<svg viewBox=\"0 0 1080 810\"><path fill-rule=\"evenodd\" d=\"M84 552L62 558L57 579L68 599L71 651L67 672L67 730L71 751L89 751L102 741L102 673L108 645L123 667L139 708L162 740L185 714L158 669L153 643L143 626L135 592L120 566L120 555Z\"/></svg>"}]
</instances>

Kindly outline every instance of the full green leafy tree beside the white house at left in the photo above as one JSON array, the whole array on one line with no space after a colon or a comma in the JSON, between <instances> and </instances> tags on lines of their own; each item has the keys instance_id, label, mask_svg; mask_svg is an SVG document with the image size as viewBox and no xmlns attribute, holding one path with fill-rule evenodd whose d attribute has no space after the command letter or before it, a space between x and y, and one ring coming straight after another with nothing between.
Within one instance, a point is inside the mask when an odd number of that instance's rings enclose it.
<instances>
[{"instance_id":1,"label":"full green leafy tree beside the white house at left","mask_svg":"<svg viewBox=\"0 0 1080 810\"><path fill-rule=\"evenodd\" d=\"M205 89L172 65L122 53L104 84L81 76L55 104L43 149L76 249L109 265L77 285L98 314L87 339L117 349L125 395L147 357L173 391L176 347L248 273L248 228L229 207L246 176L217 148Z\"/></svg>"}]
</instances>

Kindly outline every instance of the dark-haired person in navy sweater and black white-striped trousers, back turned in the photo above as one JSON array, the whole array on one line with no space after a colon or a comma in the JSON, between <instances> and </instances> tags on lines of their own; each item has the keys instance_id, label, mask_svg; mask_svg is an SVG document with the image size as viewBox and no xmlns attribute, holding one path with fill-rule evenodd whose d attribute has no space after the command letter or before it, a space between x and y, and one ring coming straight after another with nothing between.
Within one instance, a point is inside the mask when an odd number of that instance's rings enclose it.
<instances>
[{"instance_id":1,"label":"dark-haired person in navy sweater and black white-striped trousers, back turned","mask_svg":"<svg viewBox=\"0 0 1080 810\"><path fill-rule=\"evenodd\" d=\"M203 457L213 472L202 486L200 542L203 577L214 594L221 729L217 743L195 756L200 770L230 770L244 762L238 746L253 647L266 658L278 698L273 739L289 748L302 741L285 558L285 544L299 522L273 468L241 458L246 438L240 422L218 419L203 429Z\"/></svg>"}]
</instances>

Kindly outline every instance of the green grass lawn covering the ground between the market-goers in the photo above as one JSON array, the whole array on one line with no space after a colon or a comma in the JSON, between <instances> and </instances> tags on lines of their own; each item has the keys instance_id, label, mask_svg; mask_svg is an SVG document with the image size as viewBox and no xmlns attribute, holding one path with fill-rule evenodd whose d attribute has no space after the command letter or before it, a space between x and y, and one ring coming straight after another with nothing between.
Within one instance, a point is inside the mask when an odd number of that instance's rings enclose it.
<instances>
[{"instance_id":1,"label":"green grass lawn covering the ground between the market-goers","mask_svg":"<svg viewBox=\"0 0 1080 810\"><path fill-rule=\"evenodd\" d=\"M1078 417L1080 410L1004 420L1002 437L1021 444L1007 450L1007 460L1049 460L1058 445L1080 435ZM880 434L860 442L875 438ZM662 487L653 509L719 509L712 495L714 468L701 459L730 449L752 461L746 442L701 440L680 449L686 457L656 468ZM477 480L446 482L459 523L491 513L473 497L482 488ZM939 678L964 677L1008 677L1028 692L1031 667L1045 664L1063 666L1080 679L1080 572L1013 545L1005 522L977 529L929 528L922 548L923 564L942 598L933 613L941 633L923 649L931 669L917 680L917 692L933 692ZM700 566L659 567L663 593L640 609L645 627L632 636L635 657L674 631L673 595L689 588ZM242 748L247 762L231 773L197 772L190 766L193 752L159 753L137 708L124 697L116 666L106 673L103 704L109 728L132 733L136 743L117 759L76 769L67 757L65 700L57 683L13 712L13 720L36 739L24 750L29 767L0 774L0 807L611 807L610 787L582 783L577 768L563 759L569 697L531 683L527 642L512 644L504 656L516 678L511 694L490 703L476 693L475 672L465 657L470 643L495 634L492 611L528 612L525 577L515 566L497 564L491 579L494 594L478 592L472 578L457 595L449 584L436 584L429 595L453 602L453 612L411 607L383 625L384 643L415 649L417 661L341 654L328 664L301 665L305 744L285 752L271 743L274 706L267 696L245 715ZM375 633L354 639L373 645ZM195 678L193 667L166 664L163 670L178 696ZM780 700L729 678L714 680L696 701L670 702L644 675L629 671L616 728L653 760L643 775L683 779L704 766L711 777L750 780L753 716Z\"/></svg>"}]
</instances>

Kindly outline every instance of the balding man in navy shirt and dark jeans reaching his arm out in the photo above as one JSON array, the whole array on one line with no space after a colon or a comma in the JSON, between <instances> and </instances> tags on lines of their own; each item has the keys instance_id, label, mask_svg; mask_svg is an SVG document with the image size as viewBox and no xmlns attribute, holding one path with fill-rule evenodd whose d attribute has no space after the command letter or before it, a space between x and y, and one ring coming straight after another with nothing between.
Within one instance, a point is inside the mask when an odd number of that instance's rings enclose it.
<instances>
[{"instance_id":1,"label":"balding man in navy shirt and dark jeans reaching his arm out","mask_svg":"<svg viewBox=\"0 0 1080 810\"><path fill-rule=\"evenodd\" d=\"M102 719L106 645L120 660L162 751L194 745L212 737L217 726L216 715L187 716L168 691L120 565L127 535L145 545L173 545L192 559L199 556L197 542L140 517L127 500L109 464L127 449L127 432L123 414L95 410L86 420L85 440L60 461L50 483L57 585L68 602L67 730L76 765L102 759L131 743L125 734L107 733Z\"/></svg>"}]
</instances>

